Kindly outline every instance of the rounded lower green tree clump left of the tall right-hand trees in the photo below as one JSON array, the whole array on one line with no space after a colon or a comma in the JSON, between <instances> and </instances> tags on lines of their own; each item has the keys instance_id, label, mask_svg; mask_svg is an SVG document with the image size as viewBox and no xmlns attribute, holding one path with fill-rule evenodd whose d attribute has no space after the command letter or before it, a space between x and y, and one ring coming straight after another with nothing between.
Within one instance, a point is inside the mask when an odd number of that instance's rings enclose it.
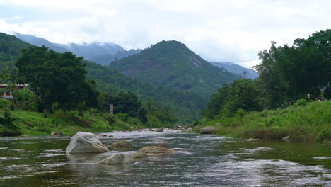
<instances>
[{"instance_id":1,"label":"rounded lower green tree clump left of the tall right-hand trees","mask_svg":"<svg viewBox=\"0 0 331 187\"><path fill-rule=\"evenodd\" d=\"M252 79L233 81L224 84L216 94L211 96L205 117L208 119L231 117L238 109L244 111L260 111L260 89Z\"/></svg>"}]
</instances>

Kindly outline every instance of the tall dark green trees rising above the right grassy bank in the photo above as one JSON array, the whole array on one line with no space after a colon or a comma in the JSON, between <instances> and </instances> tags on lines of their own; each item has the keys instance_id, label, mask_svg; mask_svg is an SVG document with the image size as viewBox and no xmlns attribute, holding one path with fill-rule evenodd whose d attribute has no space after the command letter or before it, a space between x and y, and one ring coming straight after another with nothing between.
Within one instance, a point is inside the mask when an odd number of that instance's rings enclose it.
<instances>
[{"instance_id":1,"label":"tall dark green trees rising above the right grassy bank","mask_svg":"<svg viewBox=\"0 0 331 187\"><path fill-rule=\"evenodd\" d=\"M293 46L276 47L259 53L256 66L265 108L284 106L289 99L320 96L321 89L330 98L331 30L313 33L308 39L298 38Z\"/></svg>"}]
</instances>

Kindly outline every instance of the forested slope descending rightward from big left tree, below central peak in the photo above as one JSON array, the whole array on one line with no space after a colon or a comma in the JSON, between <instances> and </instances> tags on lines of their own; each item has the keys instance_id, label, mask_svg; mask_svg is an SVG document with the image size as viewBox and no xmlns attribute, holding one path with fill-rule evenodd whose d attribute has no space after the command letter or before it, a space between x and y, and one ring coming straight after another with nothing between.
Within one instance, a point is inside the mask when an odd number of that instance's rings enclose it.
<instances>
[{"instance_id":1,"label":"forested slope descending rightward from big left tree, below central peak","mask_svg":"<svg viewBox=\"0 0 331 187\"><path fill-rule=\"evenodd\" d=\"M84 61L88 79L95 79L98 89L108 92L132 91L143 103L155 102L156 108L170 108L180 121L192 121L199 117L206 101L191 91L180 91L168 86L152 86L127 77L114 69L105 68L94 62Z\"/></svg>"}]
</instances>

